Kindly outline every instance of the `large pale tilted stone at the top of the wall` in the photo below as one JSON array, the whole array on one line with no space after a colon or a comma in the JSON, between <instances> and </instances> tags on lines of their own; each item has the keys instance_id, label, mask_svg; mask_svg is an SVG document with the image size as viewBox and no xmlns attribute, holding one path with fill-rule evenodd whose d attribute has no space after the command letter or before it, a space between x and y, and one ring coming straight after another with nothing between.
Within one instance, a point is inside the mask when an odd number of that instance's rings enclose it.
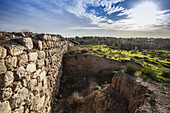
<instances>
[{"instance_id":1,"label":"large pale tilted stone at the top of the wall","mask_svg":"<svg viewBox=\"0 0 170 113\"><path fill-rule=\"evenodd\" d=\"M31 38L19 38L18 41L28 49L33 48L33 42Z\"/></svg>"}]
</instances>

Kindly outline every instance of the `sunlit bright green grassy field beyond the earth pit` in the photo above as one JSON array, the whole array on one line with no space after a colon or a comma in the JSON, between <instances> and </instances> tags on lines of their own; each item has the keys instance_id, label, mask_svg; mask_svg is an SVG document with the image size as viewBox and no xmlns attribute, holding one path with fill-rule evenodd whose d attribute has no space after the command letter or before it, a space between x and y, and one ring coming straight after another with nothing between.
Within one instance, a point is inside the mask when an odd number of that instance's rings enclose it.
<instances>
[{"instance_id":1,"label":"sunlit bright green grassy field beyond the earth pit","mask_svg":"<svg viewBox=\"0 0 170 113\"><path fill-rule=\"evenodd\" d=\"M156 85L170 87L170 51L166 50L119 50L107 45L76 45L77 53L92 54L119 62L135 62L138 69L127 66L124 70L135 70L139 76ZM129 71L127 71L128 73ZM130 73L130 72L129 72Z\"/></svg>"}]
</instances>

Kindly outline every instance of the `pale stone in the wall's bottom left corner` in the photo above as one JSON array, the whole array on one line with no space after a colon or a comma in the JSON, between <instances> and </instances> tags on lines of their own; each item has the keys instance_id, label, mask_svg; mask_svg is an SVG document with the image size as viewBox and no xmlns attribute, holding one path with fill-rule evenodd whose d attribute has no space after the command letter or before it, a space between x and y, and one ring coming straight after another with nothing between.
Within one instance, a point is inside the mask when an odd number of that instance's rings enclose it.
<instances>
[{"instance_id":1,"label":"pale stone in the wall's bottom left corner","mask_svg":"<svg viewBox=\"0 0 170 113\"><path fill-rule=\"evenodd\" d=\"M8 101L0 102L0 113L11 113L11 107Z\"/></svg>"}]
</instances>

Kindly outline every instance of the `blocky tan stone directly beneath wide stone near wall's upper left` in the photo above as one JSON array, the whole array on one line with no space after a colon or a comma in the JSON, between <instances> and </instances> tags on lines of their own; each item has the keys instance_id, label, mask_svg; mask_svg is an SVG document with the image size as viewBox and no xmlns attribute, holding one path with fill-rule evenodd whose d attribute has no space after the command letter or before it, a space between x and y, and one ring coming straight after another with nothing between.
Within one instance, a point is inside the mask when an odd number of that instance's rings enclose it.
<instances>
[{"instance_id":1,"label":"blocky tan stone directly beneath wide stone near wall's upper left","mask_svg":"<svg viewBox=\"0 0 170 113\"><path fill-rule=\"evenodd\" d=\"M5 60L6 66L8 67L8 69L13 70L14 67L17 67L17 61L17 57L7 56Z\"/></svg>"}]
</instances>

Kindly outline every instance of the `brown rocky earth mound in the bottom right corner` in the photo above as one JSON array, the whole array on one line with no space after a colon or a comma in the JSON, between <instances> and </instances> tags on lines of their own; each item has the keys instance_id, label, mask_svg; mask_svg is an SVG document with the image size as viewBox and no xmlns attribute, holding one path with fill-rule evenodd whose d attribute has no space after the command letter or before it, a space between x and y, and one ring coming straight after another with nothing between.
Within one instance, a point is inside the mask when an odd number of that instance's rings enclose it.
<instances>
[{"instance_id":1,"label":"brown rocky earth mound in the bottom right corner","mask_svg":"<svg viewBox=\"0 0 170 113\"><path fill-rule=\"evenodd\" d=\"M125 98L130 113L168 113L169 95L160 92L153 84L119 71L111 86Z\"/></svg>"}]
</instances>

